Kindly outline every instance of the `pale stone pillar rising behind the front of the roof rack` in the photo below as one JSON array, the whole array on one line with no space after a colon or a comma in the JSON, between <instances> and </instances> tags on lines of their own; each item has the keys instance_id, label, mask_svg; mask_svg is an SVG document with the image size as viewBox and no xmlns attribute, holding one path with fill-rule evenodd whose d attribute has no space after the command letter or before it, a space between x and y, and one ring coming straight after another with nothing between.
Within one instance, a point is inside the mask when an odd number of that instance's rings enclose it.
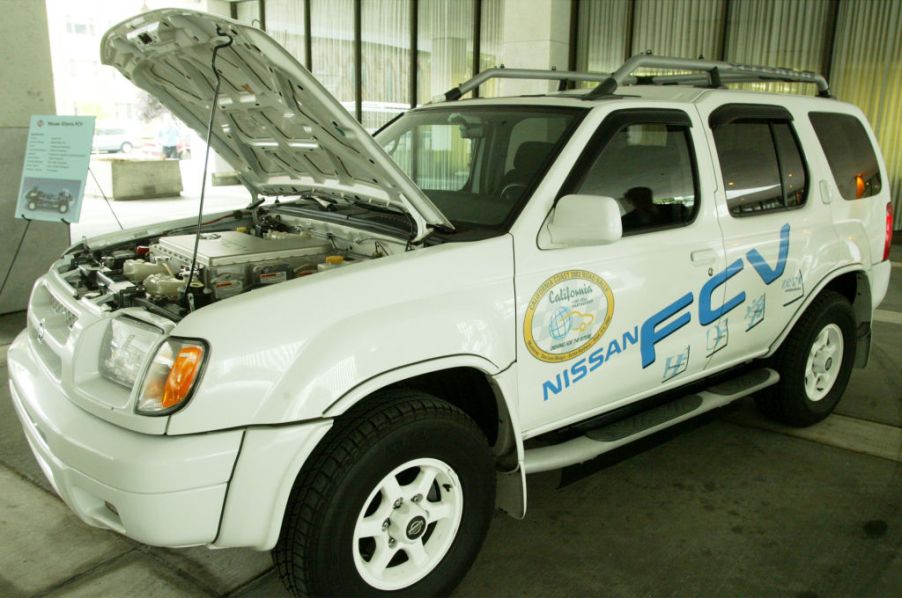
<instances>
[{"instance_id":1,"label":"pale stone pillar rising behind the front of the roof rack","mask_svg":"<svg viewBox=\"0 0 902 598\"><path fill-rule=\"evenodd\" d=\"M570 48L570 0L504 0L507 68L567 70ZM557 83L504 79L502 95L545 93Z\"/></svg>"}]
</instances>

